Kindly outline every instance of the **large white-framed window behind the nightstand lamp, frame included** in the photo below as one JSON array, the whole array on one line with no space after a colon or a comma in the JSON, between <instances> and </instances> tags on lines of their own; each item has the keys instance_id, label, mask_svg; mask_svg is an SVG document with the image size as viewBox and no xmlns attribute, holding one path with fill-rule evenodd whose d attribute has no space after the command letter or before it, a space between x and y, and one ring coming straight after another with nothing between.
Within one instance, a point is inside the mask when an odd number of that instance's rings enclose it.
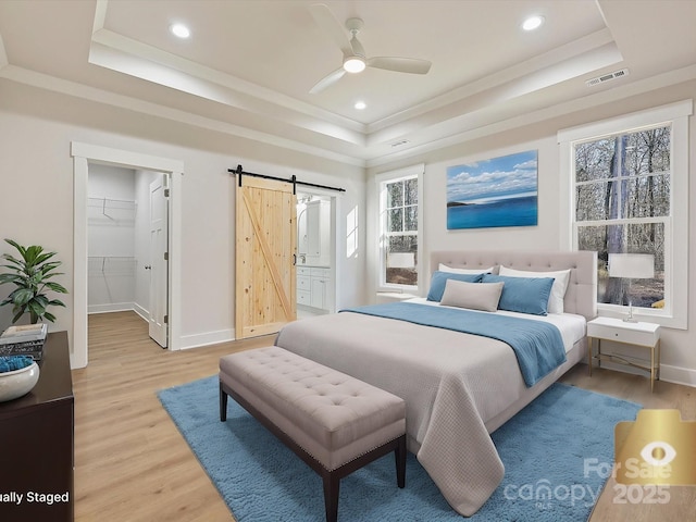
<instances>
[{"instance_id":1,"label":"large white-framed window behind the nightstand lamp, frame included","mask_svg":"<svg viewBox=\"0 0 696 522\"><path fill-rule=\"evenodd\" d=\"M570 246L597 252L601 314L630 307L686 327L691 111L689 101L559 133L571 172Z\"/></svg>"}]
</instances>

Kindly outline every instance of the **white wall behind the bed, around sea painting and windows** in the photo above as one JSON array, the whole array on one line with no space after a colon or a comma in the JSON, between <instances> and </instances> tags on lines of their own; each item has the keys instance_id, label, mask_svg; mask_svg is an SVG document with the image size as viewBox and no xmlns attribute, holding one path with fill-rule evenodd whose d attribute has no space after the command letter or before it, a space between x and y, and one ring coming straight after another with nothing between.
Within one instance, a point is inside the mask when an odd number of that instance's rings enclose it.
<instances>
[{"instance_id":1,"label":"white wall behind the bed, around sea painting and windows","mask_svg":"<svg viewBox=\"0 0 696 522\"><path fill-rule=\"evenodd\" d=\"M561 212L568 211L568 201L558 197L560 176L560 152L556 133L559 129L598 122L613 116L629 114L694 98L696 82L688 82L648 94L626 97L611 103L602 103L544 121L530 117L526 126L515 127L492 136L484 136L457 146L428 152L417 158L393 162L368 172L368 215L376 214L376 184L374 176L383 172L398 170L417 163L425 163L423 245L425 260L430 252L443 249L559 249L561 245ZM696 119L689 119L689 201L696 201ZM538 225L530 227L505 227L448 231L446 220L446 167L475 160L495 158L525 150L538 150ZM675 173L688 175L688 173ZM696 235L696 206L689 209L689 237ZM376 248L376 227L369 227L368 245ZM374 249L373 249L374 250ZM368 266L377 266L372 254ZM696 275L696 241L689 240L689 281ZM370 295L376 293L376 273L368 274ZM425 283L421 293L427 288ZM696 291L688 297L688 330L662 328L662 377L673 382L696 386Z\"/></svg>"}]
</instances>

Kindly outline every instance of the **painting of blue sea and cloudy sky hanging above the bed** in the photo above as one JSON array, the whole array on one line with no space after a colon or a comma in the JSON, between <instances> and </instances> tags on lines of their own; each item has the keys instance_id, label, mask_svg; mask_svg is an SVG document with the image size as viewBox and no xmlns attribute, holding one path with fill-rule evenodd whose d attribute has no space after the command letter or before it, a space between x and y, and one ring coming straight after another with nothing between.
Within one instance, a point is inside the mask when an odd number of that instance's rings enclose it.
<instances>
[{"instance_id":1,"label":"painting of blue sea and cloudy sky hanging above the bed","mask_svg":"<svg viewBox=\"0 0 696 522\"><path fill-rule=\"evenodd\" d=\"M447 167L447 229L537 224L537 151Z\"/></svg>"}]
</instances>

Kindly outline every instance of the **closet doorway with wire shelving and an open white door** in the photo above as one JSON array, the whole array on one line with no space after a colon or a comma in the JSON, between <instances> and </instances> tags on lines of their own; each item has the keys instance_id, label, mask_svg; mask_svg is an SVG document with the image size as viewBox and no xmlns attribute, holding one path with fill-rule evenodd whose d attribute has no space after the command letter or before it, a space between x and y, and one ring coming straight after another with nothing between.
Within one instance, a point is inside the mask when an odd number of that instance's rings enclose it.
<instances>
[{"instance_id":1,"label":"closet doorway with wire shelving and an open white door","mask_svg":"<svg viewBox=\"0 0 696 522\"><path fill-rule=\"evenodd\" d=\"M167 347L169 176L90 164L88 313L134 311Z\"/></svg>"}]
</instances>

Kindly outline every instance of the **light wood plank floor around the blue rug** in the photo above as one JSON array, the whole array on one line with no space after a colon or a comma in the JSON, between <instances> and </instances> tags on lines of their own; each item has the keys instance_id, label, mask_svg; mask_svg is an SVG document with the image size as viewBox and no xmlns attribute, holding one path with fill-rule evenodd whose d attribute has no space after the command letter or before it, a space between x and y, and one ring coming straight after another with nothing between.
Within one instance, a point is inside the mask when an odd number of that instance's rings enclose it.
<instances>
[{"instance_id":1,"label":"light wood plank floor around the blue rug","mask_svg":"<svg viewBox=\"0 0 696 522\"><path fill-rule=\"evenodd\" d=\"M273 339L170 352L148 338L147 323L133 312L90 315L89 364L73 371L75 520L234 520L156 394L216 374L220 357L271 345ZM696 420L694 388L658 382L650 394L645 377L598 370L591 378L584 364L563 382L646 408L676 408L684 420ZM670 490L669 505L648 511L646 506L614 505L608 484L592 522L693 520L696 487Z\"/></svg>"}]
</instances>

